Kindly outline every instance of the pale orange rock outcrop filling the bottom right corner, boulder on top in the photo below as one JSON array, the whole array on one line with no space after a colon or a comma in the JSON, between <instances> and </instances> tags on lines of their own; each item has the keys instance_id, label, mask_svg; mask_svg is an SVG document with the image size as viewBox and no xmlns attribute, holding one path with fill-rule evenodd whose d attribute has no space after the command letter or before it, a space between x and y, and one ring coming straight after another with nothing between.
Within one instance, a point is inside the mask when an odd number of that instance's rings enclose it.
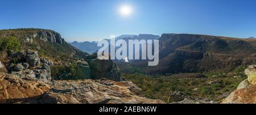
<instances>
[{"instance_id":1,"label":"pale orange rock outcrop filling the bottom right corner, boulder on top","mask_svg":"<svg viewBox=\"0 0 256 115\"><path fill-rule=\"evenodd\" d=\"M248 79L240 83L237 90L232 92L222 104L256 104L256 69L255 65L245 70Z\"/></svg>"}]
</instances>

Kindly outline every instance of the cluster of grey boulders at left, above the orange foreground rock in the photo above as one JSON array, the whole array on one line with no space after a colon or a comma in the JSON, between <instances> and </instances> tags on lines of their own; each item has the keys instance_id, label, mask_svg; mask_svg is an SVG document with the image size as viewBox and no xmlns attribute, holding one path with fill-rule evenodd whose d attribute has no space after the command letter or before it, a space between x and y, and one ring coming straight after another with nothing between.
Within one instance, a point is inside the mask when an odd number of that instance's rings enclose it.
<instances>
[{"instance_id":1,"label":"cluster of grey boulders at left, above the orange foreground rock","mask_svg":"<svg viewBox=\"0 0 256 115\"><path fill-rule=\"evenodd\" d=\"M10 58L16 59L15 62L9 65L9 72L12 75L20 78L26 78L27 76L37 78L42 82L51 81L51 66L54 64L49 59L40 59L36 50L27 50L26 53L20 51L11 54ZM17 62L18 64L15 64Z\"/></svg>"}]
</instances>

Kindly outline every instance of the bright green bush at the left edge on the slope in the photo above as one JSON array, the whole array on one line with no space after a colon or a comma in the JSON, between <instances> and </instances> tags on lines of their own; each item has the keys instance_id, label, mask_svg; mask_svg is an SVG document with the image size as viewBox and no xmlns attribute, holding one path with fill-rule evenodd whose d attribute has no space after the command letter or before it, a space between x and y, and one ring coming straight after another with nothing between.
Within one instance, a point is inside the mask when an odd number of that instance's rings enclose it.
<instances>
[{"instance_id":1,"label":"bright green bush at the left edge on the slope","mask_svg":"<svg viewBox=\"0 0 256 115\"><path fill-rule=\"evenodd\" d=\"M8 52L18 52L20 49L20 42L13 36L5 39L0 39L0 50L7 50Z\"/></svg>"}]
</instances>

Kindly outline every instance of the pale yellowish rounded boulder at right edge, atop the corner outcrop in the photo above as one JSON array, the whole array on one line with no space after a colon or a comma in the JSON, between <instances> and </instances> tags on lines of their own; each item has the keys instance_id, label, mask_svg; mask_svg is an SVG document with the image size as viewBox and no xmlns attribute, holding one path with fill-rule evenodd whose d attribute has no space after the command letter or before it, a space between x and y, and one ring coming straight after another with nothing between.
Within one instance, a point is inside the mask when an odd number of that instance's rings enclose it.
<instances>
[{"instance_id":1,"label":"pale yellowish rounded boulder at right edge, atop the corner outcrop","mask_svg":"<svg viewBox=\"0 0 256 115\"><path fill-rule=\"evenodd\" d=\"M248 82L256 84L256 65L251 65L245 70L245 74L248 76Z\"/></svg>"}]
</instances>

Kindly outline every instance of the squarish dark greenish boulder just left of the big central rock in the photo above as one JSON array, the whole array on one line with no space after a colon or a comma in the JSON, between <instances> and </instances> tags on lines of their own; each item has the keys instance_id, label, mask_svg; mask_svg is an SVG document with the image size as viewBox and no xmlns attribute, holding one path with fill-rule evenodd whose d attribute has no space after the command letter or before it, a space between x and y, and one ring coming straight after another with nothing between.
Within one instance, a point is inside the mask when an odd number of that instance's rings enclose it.
<instances>
[{"instance_id":1,"label":"squarish dark greenish boulder just left of the big central rock","mask_svg":"<svg viewBox=\"0 0 256 115\"><path fill-rule=\"evenodd\" d=\"M91 79L90 67L86 61L77 61L76 79Z\"/></svg>"}]
</instances>

